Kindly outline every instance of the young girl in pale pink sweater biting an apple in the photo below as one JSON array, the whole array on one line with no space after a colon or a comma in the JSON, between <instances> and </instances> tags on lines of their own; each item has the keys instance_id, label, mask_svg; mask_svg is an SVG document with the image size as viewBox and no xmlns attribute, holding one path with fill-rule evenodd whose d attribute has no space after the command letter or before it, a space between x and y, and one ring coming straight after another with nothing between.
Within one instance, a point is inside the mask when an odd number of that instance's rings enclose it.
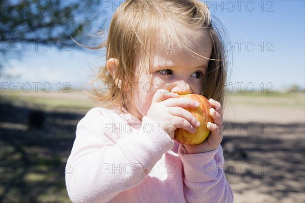
<instances>
[{"instance_id":1,"label":"young girl in pale pink sweater biting an apple","mask_svg":"<svg viewBox=\"0 0 305 203\"><path fill-rule=\"evenodd\" d=\"M73 202L232 202L223 166L225 52L205 4L195 0L126 1L114 13L99 101L78 123L66 167ZM201 94L213 107L199 145L174 130L200 125L179 94Z\"/></svg>"}]
</instances>

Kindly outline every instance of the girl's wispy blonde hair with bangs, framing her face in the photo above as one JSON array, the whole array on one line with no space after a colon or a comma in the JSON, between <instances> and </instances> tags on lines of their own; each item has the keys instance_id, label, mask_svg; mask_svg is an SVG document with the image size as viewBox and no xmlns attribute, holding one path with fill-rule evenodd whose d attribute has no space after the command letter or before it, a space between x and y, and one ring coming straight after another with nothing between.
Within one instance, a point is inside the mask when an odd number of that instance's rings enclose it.
<instances>
[{"instance_id":1,"label":"girl's wispy blonde hair with bangs, framing her face","mask_svg":"<svg viewBox=\"0 0 305 203\"><path fill-rule=\"evenodd\" d=\"M184 29L177 31L175 24L182 25ZM182 47L187 47L183 36L194 36L198 39L203 31L208 33L212 40L212 53L202 95L223 104L227 73L224 43L221 32L211 20L208 7L195 0L128 0L121 4L113 14L107 41L91 48L106 48L106 61L116 58L119 61L118 71L115 78L112 78L106 67L100 67L95 81L102 81L109 86L102 92L93 86L90 97L98 106L108 109L118 107L121 111L125 108L131 113L131 104L125 90L136 88L135 65L145 55L149 56L147 45L170 39ZM119 79L121 83L117 84L115 79Z\"/></svg>"}]
</instances>

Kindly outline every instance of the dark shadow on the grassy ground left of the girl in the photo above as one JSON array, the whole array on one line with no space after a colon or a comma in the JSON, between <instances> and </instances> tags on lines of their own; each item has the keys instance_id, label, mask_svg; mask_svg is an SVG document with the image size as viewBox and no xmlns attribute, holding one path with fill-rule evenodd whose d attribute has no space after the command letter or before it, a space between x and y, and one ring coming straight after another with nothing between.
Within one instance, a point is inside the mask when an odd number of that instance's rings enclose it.
<instances>
[{"instance_id":1,"label":"dark shadow on the grassy ground left of the girl","mask_svg":"<svg viewBox=\"0 0 305 203\"><path fill-rule=\"evenodd\" d=\"M70 202L65 165L83 114L1 103L0 115L0 202Z\"/></svg>"}]
</instances>

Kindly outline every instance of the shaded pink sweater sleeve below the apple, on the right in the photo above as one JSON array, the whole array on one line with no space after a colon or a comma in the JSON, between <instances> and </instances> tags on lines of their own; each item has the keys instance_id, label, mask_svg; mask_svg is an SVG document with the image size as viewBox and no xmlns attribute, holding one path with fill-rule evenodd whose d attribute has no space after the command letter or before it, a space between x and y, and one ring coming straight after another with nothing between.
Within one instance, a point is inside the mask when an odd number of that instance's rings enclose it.
<instances>
[{"instance_id":1,"label":"shaded pink sweater sleeve below the apple, on the right","mask_svg":"<svg viewBox=\"0 0 305 203\"><path fill-rule=\"evenodd\" d=\"M186 154L179 147L184 166L184 192L187 202L233 202L233 191L224 174L221 146L200 154Z\"/></svg>"}]
</instances>

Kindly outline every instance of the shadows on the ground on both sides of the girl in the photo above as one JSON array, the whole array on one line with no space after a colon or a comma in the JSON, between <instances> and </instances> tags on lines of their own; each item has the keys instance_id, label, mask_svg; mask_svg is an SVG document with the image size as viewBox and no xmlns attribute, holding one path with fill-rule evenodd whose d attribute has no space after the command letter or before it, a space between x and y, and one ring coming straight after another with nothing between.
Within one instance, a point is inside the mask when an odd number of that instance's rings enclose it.
<instances>
[{"instance_id":1,"label":"shadows on the ground on both sides of the girl","mask_svg":"<svg viewBox=\"0 0 305 203\"><path fill-rule=\"evenodd\" d=\"M0 202L70 202L65 165L85 112L41 111L41 128L29 126L31 112L0 104ZM303 202L304 134L303 123L224 123L224 168L235 194Z\"/></svg>"}]
</instances>

